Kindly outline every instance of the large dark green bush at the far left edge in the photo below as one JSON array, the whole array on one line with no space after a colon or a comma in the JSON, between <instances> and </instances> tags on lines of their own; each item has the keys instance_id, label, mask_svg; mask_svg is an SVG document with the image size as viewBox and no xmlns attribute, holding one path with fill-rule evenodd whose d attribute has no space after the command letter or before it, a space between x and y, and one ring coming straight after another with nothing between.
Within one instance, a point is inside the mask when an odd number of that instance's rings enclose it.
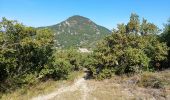
<instances>
[{"instance_id":1,"label":"large dark green bush at the far left edge","mask_svg":"<svg viewBox=\"0 0 170 100\"><path fill-rule=\"evenodd\" d=\"M32 84L52 65L53 34L5 18L0 22L0 88Z\"/></svg>"}]
</instances>

